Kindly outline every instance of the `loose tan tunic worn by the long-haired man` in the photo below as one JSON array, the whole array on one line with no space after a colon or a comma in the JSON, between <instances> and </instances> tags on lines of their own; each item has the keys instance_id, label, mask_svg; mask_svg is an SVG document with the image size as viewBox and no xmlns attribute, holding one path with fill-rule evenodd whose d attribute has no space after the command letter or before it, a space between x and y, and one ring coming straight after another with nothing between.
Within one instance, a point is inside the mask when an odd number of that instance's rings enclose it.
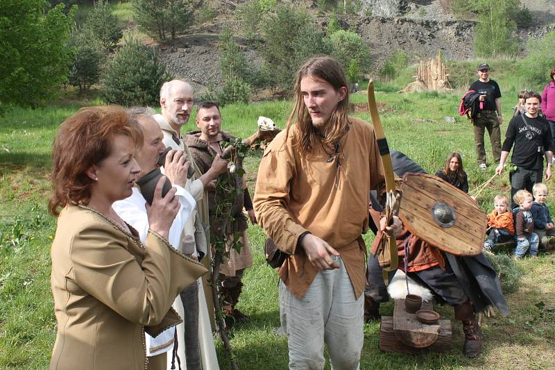
<instances>
[{"instance_id":1,"label":"loose tan tunic worn by the long-haired man","mask_svg":"<svg viewBox=\"0 0 555 370\"><path fill-rule=\"evenodd\" d=\"M360 119L349 121L350 130L341 138L339 171L336 160L330 162L330 149L326 153L317 146L302 157L293 148L296 126L287 137L287 131L278 134L260 162L255 212L266 234L291 254L280 277L298 297L304 296L318 273L305 252L296 249L305 230L341 254L357 298L366 285L361 233L368 229L370 189L382 190L384 174L373 127Z\"/></svg>"}]
</instances>

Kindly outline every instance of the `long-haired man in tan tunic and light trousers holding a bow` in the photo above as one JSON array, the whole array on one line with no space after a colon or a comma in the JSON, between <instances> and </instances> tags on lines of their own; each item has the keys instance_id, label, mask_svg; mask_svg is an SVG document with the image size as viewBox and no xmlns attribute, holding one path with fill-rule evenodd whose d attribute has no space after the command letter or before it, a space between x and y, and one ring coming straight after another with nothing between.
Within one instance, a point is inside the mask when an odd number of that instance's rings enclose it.
<instances>
[{"instance_id":1,"label":"long-haired man in tan tunic and light trousers holding a bow","mask_svg":"<svg viewBox=\"0 0 555 370\"><path fill-rule=\"evenodd\" d=\"M348 117L345 72L331 57L299 69L287 128L268 145L256 183L257 220L289 254L280 267L280 319L290 369L358 369L371 189L384 172L373 127ZM384 222L382 222L385 225ZM386 232L401 223L395 217Z\"/></svg>"}]
</instances>

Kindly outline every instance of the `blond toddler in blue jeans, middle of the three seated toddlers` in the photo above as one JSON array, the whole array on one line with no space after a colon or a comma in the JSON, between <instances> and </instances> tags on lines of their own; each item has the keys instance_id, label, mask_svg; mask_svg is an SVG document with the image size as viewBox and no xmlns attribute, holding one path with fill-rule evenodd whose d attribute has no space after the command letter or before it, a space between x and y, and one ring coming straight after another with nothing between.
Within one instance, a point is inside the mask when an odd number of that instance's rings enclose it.
<instances>
[{"instance_id":1,"label":"blond toddler in blue jeans, middle of the three seated toddlers","mask_svg":"<svg viewBox=\"0 0 555 370\"><path fill-rule=\"evenodd\" d=\"M538 234L533 233L533 219L530 209L532 208L533 196L526 190L519 190L513 196L513 201L518 204L515 212L516 248L515 259L526 255L530 250L532 258L538 258Z\"/></svg>"}]
</instances>

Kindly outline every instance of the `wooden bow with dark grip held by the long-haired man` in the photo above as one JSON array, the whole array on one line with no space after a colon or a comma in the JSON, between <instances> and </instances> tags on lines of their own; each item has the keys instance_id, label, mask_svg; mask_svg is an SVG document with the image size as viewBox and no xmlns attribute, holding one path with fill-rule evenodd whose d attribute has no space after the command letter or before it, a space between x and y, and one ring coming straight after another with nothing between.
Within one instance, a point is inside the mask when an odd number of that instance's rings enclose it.
<instances>
[{"instance_id":1,"label":"wooden bow with dark grip held by the long-haired man","mask_svg":"<svg viewBox=\"0 0 555 370\"><path fill-rule=\"evenodd\" d=\"M386 221L387 225L393 224L393 215L399 210L400 193L395 191L395 174L393 165L391 164L391 155L384 133L384 126L379 119L376 106L376 98L374 96L374 82L368 82L368 110L374 126L374 132L377 139L379 155L382 157L382 165L384 166L384 176L386 179ZM379 264L384 271L384 282L388 283L388 271L395 271L398 267L398 251L395 237L389 237L384 234L382 236L382 244L378 249ZM379 255L383 253L382 255ZM389 261L388 261L389 260Z\"/></svg>"}]
</instances>

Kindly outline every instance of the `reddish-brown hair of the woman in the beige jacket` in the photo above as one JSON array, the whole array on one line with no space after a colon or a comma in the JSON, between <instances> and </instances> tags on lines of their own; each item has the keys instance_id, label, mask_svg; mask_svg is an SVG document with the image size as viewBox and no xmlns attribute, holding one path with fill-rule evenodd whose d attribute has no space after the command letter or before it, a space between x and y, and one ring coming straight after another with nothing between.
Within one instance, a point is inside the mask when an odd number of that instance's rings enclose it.
<instances>
[{"instance_id":1,"label":"reddish-brown hair of the woman in the beige jacket","mask_svg":"<svg viewBox=\"0 0 555 370\"><path fill-rule=\"evenodd\" d=\"M89 203L94 181L86 171L110 155L114 135L126 135L137 147L143 143L141 126L119 106L81 108L62 122L52 150L52 215L68 203Z\"/></svg>"}]
</instances>

